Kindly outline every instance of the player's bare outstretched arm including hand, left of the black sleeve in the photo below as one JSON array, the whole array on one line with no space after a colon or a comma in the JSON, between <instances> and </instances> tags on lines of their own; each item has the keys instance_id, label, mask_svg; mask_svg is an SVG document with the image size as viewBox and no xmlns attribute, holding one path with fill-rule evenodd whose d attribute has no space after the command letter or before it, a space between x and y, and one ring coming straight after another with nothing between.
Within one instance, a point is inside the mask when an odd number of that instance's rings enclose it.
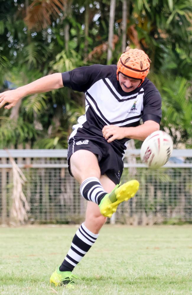
<instances>
[{"instance_id":1,"label":"player's bare outstretched arm including hand, left of the black sleeve","mask_svg":"<svg viewBox=\"0 0 192 295\"><path fill-rule=\"evenodd\" d=\"M19 99L27 95L48 92L61 87L63 87L61 73L45 76L25 86L0 93L0 108L8 103L5 109L11 109L12 106L17 104Z\"/></svg>"}]
</instances>

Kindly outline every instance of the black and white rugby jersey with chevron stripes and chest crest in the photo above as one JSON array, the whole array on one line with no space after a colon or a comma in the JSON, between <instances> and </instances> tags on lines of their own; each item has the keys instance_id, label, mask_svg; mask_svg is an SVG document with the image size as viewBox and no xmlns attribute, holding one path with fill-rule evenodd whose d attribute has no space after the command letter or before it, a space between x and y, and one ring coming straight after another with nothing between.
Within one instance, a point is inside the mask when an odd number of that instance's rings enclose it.
<instances>
[{"instance_id":1,"label":"black and white rugby jersey with chevron stripes and chest crest","mask_svg":"<svg viewBox=\"0 0 192 295\"><path fill-rule=\"evenodd\" d=\"M116 78L116 65L90 65L62 73L63 85L85 93L86 113L73 126L70 138L100 137L105 125L135 127L143 121L161 120L161 96L154 84L145 78L140 87L124 92ZM69 139L70 139L69 138ZM128 138L114 140L111 144L124 153Z\"/></svg>"}]
</instances>

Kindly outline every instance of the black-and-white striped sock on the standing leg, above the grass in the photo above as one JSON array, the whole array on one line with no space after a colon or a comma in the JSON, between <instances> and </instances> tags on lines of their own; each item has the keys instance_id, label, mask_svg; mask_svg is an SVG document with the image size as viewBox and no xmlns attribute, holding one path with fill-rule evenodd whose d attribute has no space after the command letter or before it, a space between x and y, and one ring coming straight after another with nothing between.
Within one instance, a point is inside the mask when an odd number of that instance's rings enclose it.
<instances>
[{"instance_id":1,"label":"black-and-white striped sock on the standing leg, above the grass","mask_svg":"<svg viewBox=\"0 0 192 295\"><path fill-rule=\"evenodd\" d=\"M73 271L74 267L88 252L97 240L98 235L93 234L84 223L78 228L71 243L71 248L62 262L60 271Z\"/></svg>"}]
</instances>

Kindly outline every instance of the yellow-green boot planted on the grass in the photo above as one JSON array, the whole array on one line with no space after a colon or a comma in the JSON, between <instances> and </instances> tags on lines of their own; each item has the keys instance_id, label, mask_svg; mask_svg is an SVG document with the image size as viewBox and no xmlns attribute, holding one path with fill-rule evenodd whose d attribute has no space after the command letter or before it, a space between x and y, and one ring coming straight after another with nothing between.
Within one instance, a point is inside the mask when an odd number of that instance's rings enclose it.
<instances>
[{"instance_id":1,"label":"yellow-green boot planted on the grass","mask_svg":"<svg viewBox=\"0 0 192 295\"><path fill-rule=\"evenodd\" d=\"M75 276L71 271L60 271L59 267L50 277L50 283L55 284L55 286L66 286L66 288L74 288L75 282L74 278L79 278Z\"/></svg>"}]
</instances>

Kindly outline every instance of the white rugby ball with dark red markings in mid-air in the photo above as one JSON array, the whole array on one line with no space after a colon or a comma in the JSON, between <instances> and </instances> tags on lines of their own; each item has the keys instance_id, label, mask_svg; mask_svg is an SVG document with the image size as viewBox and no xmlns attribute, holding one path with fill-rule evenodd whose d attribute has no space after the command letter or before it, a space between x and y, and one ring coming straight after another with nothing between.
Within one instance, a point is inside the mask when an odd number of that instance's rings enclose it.
<instances>
[{"instance_id":1,"label":"white rugby ball with dark red markings in mid-air","mask_svg":"<svg viewBox=\"0 0 192 295\"><path fill-rule=\"evenodd\" d=\"M165 165L173 151L173 140L165 131L155 131L142 143L141 162L149 168L157 169Z\"/></svg>"}]
</instances>

